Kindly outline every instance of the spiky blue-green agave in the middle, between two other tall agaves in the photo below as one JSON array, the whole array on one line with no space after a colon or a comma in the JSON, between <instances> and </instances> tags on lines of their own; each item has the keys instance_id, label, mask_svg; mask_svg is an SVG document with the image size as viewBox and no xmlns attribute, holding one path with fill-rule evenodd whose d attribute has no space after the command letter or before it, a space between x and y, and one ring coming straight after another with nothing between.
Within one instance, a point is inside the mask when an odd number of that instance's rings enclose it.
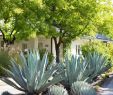
<instances>
[{"instance_id":1,"label":"spiky blue-green agave in the middle, between two other tall agaves","mask_svg":"<svg viewBox=\"0 0 113 95\"><path fill-rule=\"evenodd\" d=\"M65 68L65 80L63 85L71 87L75 81L86 81L88 78L87 64L82 57L72 56L71 60L65 57L63 64ZM87 74L87 75L86 75Z\"/></svg>"}]
</instances>

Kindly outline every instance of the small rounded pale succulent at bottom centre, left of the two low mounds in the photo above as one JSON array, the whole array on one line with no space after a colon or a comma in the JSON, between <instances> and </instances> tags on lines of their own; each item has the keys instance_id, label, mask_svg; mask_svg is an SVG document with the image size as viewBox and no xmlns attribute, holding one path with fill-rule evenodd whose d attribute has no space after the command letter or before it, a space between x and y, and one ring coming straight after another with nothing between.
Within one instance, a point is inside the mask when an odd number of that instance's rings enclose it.
<instances>
[{"instance_id":1,"label":"small rounded pale succulent at bottom centre, left of the two low mounds","mask_svg":"<svg viewBox=\"0 0 113 95\"><path fill-rule=\"evenodd\" d=\"M48 95L68 95L68 92L64 87L54 85L49 88Z\"/></svg>"}]
</instances>

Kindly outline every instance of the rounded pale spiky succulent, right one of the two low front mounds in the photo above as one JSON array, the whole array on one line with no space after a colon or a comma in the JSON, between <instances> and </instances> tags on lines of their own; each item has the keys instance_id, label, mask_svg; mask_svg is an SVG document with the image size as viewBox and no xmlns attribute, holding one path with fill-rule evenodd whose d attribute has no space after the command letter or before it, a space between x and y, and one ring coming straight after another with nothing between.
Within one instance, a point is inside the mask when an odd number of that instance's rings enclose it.
<instances>
[{"instance_id":1,"label":"rounded pale spiky succulent, right one of the two low front mounds","mask_svg":"<svg viewBox=\"0 0 113 95\"><path fill-rule=\"evenodd\" d=\"M95 89L84 81L74 82L71 86L72 95L97 95Z\"/></svg>"}]
</instances>

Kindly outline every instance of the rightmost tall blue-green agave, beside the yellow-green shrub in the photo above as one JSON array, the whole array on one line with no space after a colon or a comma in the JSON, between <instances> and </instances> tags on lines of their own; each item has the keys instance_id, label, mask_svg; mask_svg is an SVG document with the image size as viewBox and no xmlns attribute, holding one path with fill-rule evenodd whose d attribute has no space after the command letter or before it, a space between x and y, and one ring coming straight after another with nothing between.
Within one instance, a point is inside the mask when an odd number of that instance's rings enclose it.
<instances>
[{"instance_id":1,"label":"rightmost tall blue-green agave, beside the yellow-green shrub","mask_svg":"<svg viewBox=\"0 0 113 95\"><path fill-rule=\"evenodd\" d=\"M87 72L89 72L88 82L91 82L95 77L101 75L106 70L110 68L109 61L107 57L94 52L89 53L88 56L85 57L87 62Z\"/></svg>"}]
</instances>

